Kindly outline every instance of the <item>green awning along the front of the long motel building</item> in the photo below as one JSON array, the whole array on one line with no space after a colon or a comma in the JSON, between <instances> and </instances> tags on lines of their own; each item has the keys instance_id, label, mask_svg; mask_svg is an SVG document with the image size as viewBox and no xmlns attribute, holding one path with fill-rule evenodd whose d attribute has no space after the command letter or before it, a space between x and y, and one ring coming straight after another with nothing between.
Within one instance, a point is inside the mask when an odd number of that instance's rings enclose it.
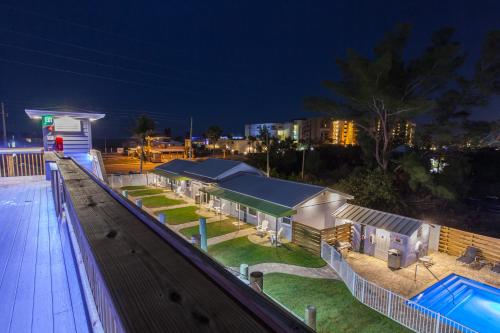
<instances>
[{"instance_id":1,"label":"green awning along the front of the long motel building","mask_svg":"<svg viewBox=\"0 0 500 333\"><path fill-rule=\"evenodd\" d=\"M258 210L259 212L274 217L290 216L296 213L294 209L290 209L289 207L277 205L272 202L268 202L265 200L239 194L229 190L224 190L217 187L202 188L200 189L200 191L208 193L210 195L213 195L221 199L237 202L239 204L253 208L255 210Z\"/></svg>"}]
</instances>

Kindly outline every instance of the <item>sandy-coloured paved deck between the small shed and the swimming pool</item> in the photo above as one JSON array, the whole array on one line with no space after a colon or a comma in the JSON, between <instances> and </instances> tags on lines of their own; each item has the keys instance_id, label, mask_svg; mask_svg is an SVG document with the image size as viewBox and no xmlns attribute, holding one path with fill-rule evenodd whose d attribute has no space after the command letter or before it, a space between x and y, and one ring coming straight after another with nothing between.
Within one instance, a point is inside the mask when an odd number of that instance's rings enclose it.
<instances>
[{"instance_id":1,"label":"sandy-coloured paved deck between the small shed and the swimming pool","mask_svg":"<svg viewBox=\"0 0 500 333\"><path fill-rule=\"evenodd\" d=\"M455 273L500 288L500 274L492 273L489 266L474 270L458 264L456 257L445 253L433 252L430 256L433 258L434 265L429 269L439 279ZM436 278L421 264L417 267L417 278L415 280L416 264L398 270L391 270L387 267L386 261L357 252L349 252L347 262L356 273L365 279L408 298L437 282Z\"/></svg>"}]
</instances>

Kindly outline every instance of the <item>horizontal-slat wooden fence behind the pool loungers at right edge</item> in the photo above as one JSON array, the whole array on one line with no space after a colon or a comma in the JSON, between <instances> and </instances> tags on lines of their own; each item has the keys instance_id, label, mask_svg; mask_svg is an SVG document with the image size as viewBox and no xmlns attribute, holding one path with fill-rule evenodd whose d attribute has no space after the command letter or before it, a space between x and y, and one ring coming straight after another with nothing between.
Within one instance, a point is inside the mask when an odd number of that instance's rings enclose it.
<instances>
[{"instance_id":1,"label":"horizontal-slat wooden fence behind the pool loungers at right edge","mask_svg":"<svg viewBox=\"0 0 500 333\"><path fill-rule=\"evenodd\" d=\"M500 262L500 239L473 234L449 227L441 227L439 252L461 256L467 246L479 249L479 257L490 262Z\"/></svg>"}]
</instances>

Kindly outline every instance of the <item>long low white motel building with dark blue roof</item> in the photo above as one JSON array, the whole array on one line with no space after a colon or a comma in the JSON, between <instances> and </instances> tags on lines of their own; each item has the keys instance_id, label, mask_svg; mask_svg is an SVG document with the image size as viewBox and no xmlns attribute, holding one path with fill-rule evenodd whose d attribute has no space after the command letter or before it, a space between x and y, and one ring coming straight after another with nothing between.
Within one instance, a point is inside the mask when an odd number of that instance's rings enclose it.
<instances>
[{"instance_id":1,"label":"long low white motel building with dark blue roof","mask_svg":"<svg viewBox=\"0 0 500 333\"><path fill-rule=\"evenodd\" d=\"M170 188L239 220L281 231L292 239L292 221L315 229L335 226L335 212L352 196L328 187L276 178L238 161L208 159L202 162L173 160L151 172L156 185Z\"/></svg>"}]
</instances>

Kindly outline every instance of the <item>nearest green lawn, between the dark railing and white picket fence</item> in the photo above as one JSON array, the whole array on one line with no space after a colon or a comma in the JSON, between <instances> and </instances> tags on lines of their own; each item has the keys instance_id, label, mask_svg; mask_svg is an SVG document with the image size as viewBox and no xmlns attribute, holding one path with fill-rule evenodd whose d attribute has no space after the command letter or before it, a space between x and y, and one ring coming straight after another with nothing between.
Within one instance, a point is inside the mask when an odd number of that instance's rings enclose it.
<instances>
[{"instance_id":1,"label":"nearest green lawn, between the dark railing and white picket fence","mask_svg":"<svg viewBox=\"0 0 500 333\"><path fill-rule=\"evenodd\" d=\"M306 305L316 306L318 332L411 332L356 300L341 281L272 273L264 291L301 318Z\"/></svg>"}]
</instances>

